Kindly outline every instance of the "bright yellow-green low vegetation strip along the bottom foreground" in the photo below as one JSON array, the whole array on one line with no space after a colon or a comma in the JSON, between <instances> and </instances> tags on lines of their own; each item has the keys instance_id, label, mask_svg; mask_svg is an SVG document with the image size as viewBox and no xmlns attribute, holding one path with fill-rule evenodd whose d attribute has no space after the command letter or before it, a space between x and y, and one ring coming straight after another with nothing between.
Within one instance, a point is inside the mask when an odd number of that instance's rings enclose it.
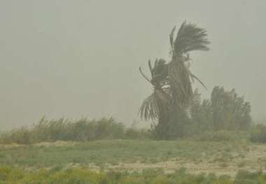
<instances>
[{"instance_id":1,"label":"bright yellow-green low vegetation strip along the bottom foreground","mask_svg":"<svg viewBox=\"0 0 266 184\"><path fill-rule=\"evenodd\" d=\"M180 169L174 174L163 174L162 171L146 170L143 173L96 173L86 168L76 169L41 169L38 171L24 171L22 169L15 169L10 167L0 167L0 183L14 183L14 184L148 184L148 183L175 183L175 184L244 184L244 183L258 183L266 182L266 175L261 172L248 173L241 171L237 174L235 179L228 176L216 176L214 174L192 175L186 173L185 169Z\"/></svg>"}]
</instances>

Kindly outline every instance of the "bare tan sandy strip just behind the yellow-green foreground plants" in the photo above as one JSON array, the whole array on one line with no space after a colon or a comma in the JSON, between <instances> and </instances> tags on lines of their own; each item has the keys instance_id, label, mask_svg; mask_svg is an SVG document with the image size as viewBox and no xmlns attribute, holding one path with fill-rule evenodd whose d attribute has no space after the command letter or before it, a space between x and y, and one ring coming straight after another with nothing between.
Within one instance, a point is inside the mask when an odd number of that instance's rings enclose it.
<instances>
[{"instance_id":1,"label":"bare tan sandy strip just behind the yellow-green foreground plants","mask_svg":"<svg viewBox=\"0 0 266 184\"><path fill-rule=\"evenodd\" d=\"M173 173L174 171L186 168L186 171L191 174L216 174L234 177L239 170L246 171L262 171L266 173L266 145L250 146L249 150L239 155L235 153L235 158L228 162L214 162L216 155L208 160L191 161L177 157L165 162L157 163L120 163L116 166L106 164L106 170L117 171L142 171L143 169L163 169L165 173ZM97 167L92 166L94 169Z\"/></svg>"}]
</instances>

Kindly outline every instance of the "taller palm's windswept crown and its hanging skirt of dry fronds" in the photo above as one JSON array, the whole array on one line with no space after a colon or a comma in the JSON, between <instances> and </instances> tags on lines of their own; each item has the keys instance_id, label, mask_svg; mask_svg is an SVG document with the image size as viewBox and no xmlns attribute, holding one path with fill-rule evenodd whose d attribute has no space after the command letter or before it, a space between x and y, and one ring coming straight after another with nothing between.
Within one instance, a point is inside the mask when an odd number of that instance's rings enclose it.
<instances>
[{"instance_id":1,"label":"taller palm's windswept crown and its hanging skirt of dry fronds","mask_svg":"<svg viewBox=\"0 0 266 184\"><path fill-rule=\"evenodd\" d=\"M193 94L192 82L198 80L204 87L204 83L191 73L188 63L190 57L188 52L193 50L209 50L207 45L207 31L195 24L183 22L176 38L172 29L169 35L172 60L169 62L169 83L172 90L174 103L178 106L186 106Z\"/></svg>"}]
</instances>

